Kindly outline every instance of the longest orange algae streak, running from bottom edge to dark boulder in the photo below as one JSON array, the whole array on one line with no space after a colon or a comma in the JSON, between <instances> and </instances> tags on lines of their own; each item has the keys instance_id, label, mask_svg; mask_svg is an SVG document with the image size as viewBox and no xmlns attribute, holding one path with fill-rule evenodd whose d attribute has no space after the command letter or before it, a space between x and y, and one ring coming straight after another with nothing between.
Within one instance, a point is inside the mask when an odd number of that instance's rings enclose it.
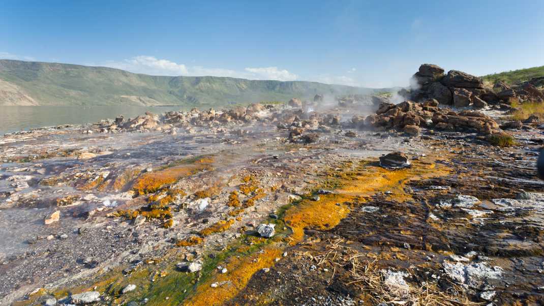
<instances>
[{"instance_id":1,"label":"longest orange algae streak, running from bottom edge to dark boulder","mask_svg":"<svg viewBox=\"0 0 544 306\"><path fill-rule=\"evenodd\" d=\"M372 165L364 165L362 173L356 174L354 179L342 180L341 187L335 194L321 195L319 201L304 199L298 205L287 210L284 220L293 230L290 236L290 245L304 240L304 229L332 229L349 214L349 203L358 197L371 196L379 191L389 190L391 197L399 201L410 199L404 192L404 186L411 179L425 179L445 176L449 168L437 167L434 163L416 161L411 168L389 171ZM262 255L246 258L237 258L227 265L228 273L217 274L206 283L199 284L196 294L186 305L220 305L237 295L245 288L254 273L265 267L274 266L274 259L279 257L287 245L274 243L264 248ZM220 286L221 283L224 286ZM230 283L227 283L230 282ZM217 283L217 288L211 284Z\"/></svg>"}]
</instances>

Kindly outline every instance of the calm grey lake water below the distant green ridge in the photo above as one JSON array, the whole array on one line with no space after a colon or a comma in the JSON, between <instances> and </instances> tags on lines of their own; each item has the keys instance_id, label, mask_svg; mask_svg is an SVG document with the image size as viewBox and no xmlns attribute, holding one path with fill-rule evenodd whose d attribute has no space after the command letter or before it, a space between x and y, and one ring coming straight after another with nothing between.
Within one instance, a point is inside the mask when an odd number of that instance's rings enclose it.
<instances>
[{"instance_id":1,"label":"calm grey lake water below the distant green ridge","mask_svg":"<svg viewBox=\"0 0 544 306\"><path fill-rule=\"evenodd\" d=\"M188 110L175 107L129 107L129 106L0 106L0 135L28 130L31 128L59 126L61 124L84 124L114 119L118 115L125 118L136 117L146 111L160 114L171 110Z\"/></svg>"}]
</instances>

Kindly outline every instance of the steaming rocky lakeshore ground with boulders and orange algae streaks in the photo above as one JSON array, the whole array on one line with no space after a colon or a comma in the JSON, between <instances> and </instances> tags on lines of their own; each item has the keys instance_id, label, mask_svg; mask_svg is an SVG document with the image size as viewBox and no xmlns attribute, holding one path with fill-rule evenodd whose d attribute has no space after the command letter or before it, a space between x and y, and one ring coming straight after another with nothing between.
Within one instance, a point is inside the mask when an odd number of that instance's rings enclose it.
<instances>
[{"instance_id":1,"label":"steaming rocky lakeshore ground with boulders and orange algae streaks","mask_svg":"<svg viewBox=\"0 0 544 306\"><path fill-rule=\"evenodd\" d=\"M4 135L0 304L543 304L542 92L415 78Z\"/></svg>"}]
</instances>

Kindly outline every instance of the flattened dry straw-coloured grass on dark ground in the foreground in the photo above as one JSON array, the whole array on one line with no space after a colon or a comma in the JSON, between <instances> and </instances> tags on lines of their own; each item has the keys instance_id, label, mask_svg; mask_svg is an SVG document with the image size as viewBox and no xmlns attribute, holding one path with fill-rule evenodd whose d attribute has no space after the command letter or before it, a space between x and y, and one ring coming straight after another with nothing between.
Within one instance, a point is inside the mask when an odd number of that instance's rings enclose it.
<instances>
[{"instance_id":1,"label":"flattened dry straw-coloured grass on dark ground in the foreground","mask_svg":"<svg viewBox=\"0 0 544 306\"><path fill-rule=\"evenodd\" d=\"M409 283L408 288L398 288L388 284L382 270L378 268L376 260L360 260L364 254L356 249L344 246L342 239L332 241L327 246L327 252L315 257L318 265L330 264L335 271L342 271L342 267L350 267L347 273L347 286L356 286L366 293L372 304L397 304L397 305L476 305L469 301L464 291L457 285L441 291L434 283L422 284ZM338 267L338 268L337 268Z\"/></svg>"}]
</instances>

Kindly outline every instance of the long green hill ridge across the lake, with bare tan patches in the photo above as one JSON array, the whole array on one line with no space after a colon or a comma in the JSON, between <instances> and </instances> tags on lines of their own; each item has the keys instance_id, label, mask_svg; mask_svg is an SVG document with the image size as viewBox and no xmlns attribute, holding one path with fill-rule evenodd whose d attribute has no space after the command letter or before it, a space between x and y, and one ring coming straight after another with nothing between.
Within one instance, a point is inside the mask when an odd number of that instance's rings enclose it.
<instances>
[{"instance_id":1,"label":"long green hill ridge across the lake, with bare tan patches","mask_svg":"<svg viewBox=\"0 0 544 306\"><path fill-rule=\"evenodd\" d=\"M227 77L166 77L107 67L0 60L0 105L208 106L379 89Z\"/></svg>"}]
</instances>

